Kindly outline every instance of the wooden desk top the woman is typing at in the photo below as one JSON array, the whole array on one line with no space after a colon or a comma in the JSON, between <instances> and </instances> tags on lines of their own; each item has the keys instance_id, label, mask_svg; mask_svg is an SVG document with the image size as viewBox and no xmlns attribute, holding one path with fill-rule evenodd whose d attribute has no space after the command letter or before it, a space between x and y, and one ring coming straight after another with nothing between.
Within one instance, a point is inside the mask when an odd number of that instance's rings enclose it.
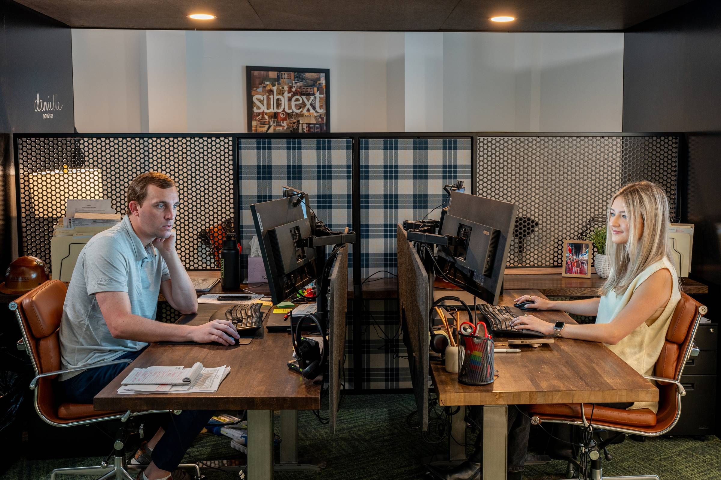
<instances>
[{"instance_id":1,"label":"wooden desk top the woman is typing at","mask_svg":"<svg viewBox=\"0 0 721 480\"><path fill-rule=\"evenodd\" d=\"M513 305L532 290L505 291L499 304ZM534 312L549 322L575 323L563 312ZM497 341L496 348L507 348ZM658 389L601 343L557 338L539 348L494 356L498 377L483 386L464 385L458 373L431 363L433 384L443 406L580 402L656 402Z\"/></svg>"}]
</instances>

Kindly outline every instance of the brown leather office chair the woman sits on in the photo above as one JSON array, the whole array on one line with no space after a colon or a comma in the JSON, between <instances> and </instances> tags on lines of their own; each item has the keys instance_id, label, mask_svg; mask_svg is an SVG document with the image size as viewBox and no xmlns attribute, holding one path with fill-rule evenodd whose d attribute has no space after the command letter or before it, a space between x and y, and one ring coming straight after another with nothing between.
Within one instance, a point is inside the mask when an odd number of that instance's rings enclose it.
<instances>
[{"instance_id":1,"label":"brown leather office chair the woman sits on","mask_svg":"<svg viewBox=\"0 0 721 480\"><path fill-rule=\"evenodd\" d=\"M591 469L589 478L595 480L658 480L658 476L603 476L601 470L601 453L603 449L619 435L642 435L656 437L668 433L676 425L681 416L681 397L686 395L681 385L681 374L684 365L690 356L698 355L699 350L694 345L694 336L702 315L708 311L707 307L699 304L690 296L681 293L681 300L671 318L671 325L666 332L666 341L661 350L654 376L645 376L658 382L658 413L650 409L625 410L611 407L591 407L586 404L543 404L531 405L530 415L534 422L557 422L578 425L588 425L593 410L593 426L617 432L618 435L596 445L590 451ZM572 474L572 469L568 472ZM571 478L571 477L567 477Z\"/></svg>"}]
</instances>

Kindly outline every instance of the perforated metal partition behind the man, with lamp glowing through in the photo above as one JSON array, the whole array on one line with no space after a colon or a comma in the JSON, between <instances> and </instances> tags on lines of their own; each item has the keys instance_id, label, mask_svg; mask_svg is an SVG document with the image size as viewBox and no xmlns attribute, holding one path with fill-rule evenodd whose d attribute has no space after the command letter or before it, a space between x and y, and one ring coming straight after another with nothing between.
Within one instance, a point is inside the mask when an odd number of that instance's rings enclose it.
<instances>
[{"instance_id":1,"label":"perforated metal partition behind the man, with lamp glowing through","mask_svg":"<svg viewBox=\"0 0 721 480\"><path fill-rule=\"evenodd\" d=\"M216 254L234 225L234 148L221 135L77 135L16 142L21 255L50 264L53 225L68 199L110 199L125 214L128 184L159 171L177 182L177 252L188 269L218 268Z\"/></svg>"}]
</instances>

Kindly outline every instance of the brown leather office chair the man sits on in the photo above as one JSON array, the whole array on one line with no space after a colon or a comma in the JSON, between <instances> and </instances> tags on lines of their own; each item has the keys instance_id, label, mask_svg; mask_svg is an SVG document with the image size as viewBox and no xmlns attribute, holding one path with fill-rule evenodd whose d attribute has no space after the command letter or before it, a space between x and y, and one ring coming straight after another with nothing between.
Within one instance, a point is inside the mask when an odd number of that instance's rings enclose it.
<instances>
[{"instance_id":1,"label":"brown leather office chair the man sits on","mask_svg":"<svg viewBox=\"0 0 721 480\"><path fill-rule=\"evenodd\" d=\"M46 281L40 286L20 296L9 307L15 312L22 332L22 340L18 348L25 350L30 356L35 378L30 382L33 391L35 411L46 423L55 427L74 427L107 420L120 420L123 427L118 430L113 448L115 461L113 464L102 462L99 466L79 468L56 468L50 474L55 480L57 475L94 475L103 479L134 480L135 476L128 473L128 468L143 468L125 464L125 425L128 419L149 413L168 412L168 410L148 410L145 412L97 412L92 404L63 403L53 391L53 379L61 370L60 362L60 321L63 316L63 303L68 289L59 280ZM131 363L130 360L113 360L98 363L91 368L113 365L115 363ZM81 371L88 368L74 368L65 371ZM182 465L193 468L198 478L200 469L195 464Z\"/></svg>"}]
</instances>

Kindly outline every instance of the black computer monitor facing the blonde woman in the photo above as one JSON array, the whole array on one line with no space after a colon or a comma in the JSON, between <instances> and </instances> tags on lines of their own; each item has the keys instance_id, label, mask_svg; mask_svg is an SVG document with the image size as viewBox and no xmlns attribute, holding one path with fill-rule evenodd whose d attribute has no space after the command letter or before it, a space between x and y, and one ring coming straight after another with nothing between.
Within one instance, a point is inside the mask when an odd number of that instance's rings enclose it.
<instances>
[{"instance_id":1,"label":"black computer monitor facing the blonde woman","mask_svg":"<svg viewBox=\"0 0 721 480\"><path fill-rule=\"evenodd\" d=\"M439 233L464 241L438 247L438 266L443 274L464 290L497 305L516 214L516 204L452 191Z\"/></svg>"}]
</instances>

